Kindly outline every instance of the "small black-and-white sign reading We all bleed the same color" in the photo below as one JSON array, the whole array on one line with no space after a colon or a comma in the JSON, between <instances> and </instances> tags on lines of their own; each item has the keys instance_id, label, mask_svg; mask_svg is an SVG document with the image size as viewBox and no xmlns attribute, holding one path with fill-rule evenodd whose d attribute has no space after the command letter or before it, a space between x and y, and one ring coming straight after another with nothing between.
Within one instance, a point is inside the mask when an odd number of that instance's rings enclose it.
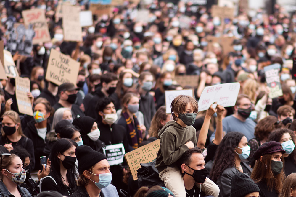
<instances>
[{"instance_id":1,"label":"small black-and-white sign reading We all bleed the same color","mask_svg":"<svg viewBox=\"0 0 296 197\"><path fill-rule=\"evenodd\" d=\"M118 165L123 162L123 157L126 151L123 144L108 145L103 148L104 154L107 157L109 165Z\"/></svg>"}]
</instances>

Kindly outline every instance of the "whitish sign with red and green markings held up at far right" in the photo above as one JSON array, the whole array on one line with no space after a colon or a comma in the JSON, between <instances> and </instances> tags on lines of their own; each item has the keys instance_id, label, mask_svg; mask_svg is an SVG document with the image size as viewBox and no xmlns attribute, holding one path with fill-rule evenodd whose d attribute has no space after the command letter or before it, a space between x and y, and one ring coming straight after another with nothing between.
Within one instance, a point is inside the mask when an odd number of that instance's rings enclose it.
<instances>
[{"instance_id":1,"label":"whitish sign with red and green markings held up at far right","mask_svg":"<svg viewBox=\"0 0 296 197\"><path fill-rule=\"evenodd\" d=\"M263 68L267 86L270 88L269 98L276 98L283 95L279 77L280 68L281 65L279 64L273 64Z\"/></svg>"}]
</instances>

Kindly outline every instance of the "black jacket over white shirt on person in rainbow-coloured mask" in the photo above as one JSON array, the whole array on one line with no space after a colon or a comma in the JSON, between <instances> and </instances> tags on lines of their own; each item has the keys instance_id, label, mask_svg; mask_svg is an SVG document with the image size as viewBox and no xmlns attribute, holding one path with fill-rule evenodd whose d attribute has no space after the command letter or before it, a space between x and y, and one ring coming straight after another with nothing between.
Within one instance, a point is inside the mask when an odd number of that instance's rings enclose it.
<instances>
[{"instance_id":1,"label":"black jacket over white shirt on person in rainbow-coloured mask","mask_svg":"<svg viewBox=\"0 0 296 197\"><path fill-rule=\"evenodd\" d=\"M46 125L47 131L46 134L50 132L50 124ZM35 169L40 168L40 157L46 156L48 158L49 153L45 151L45 145L48 143L48 140L45 138L44 140L38 135L37 129L35 127L35 122L29 122L28 126L24 130L25 136L33 141L34 145L34 156L35 156Z\"/></svg>"}]
</instances>

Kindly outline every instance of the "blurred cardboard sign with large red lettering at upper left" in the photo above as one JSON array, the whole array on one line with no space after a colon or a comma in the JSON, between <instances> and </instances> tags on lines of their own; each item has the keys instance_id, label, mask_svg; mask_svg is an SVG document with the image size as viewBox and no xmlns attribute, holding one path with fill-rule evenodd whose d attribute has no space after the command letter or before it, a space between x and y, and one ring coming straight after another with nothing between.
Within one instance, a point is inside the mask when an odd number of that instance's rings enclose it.
<instances>
[{"instance_id":1,"label":"blurred cardboard sign with large red lettering at upper left","mask_svg":"<svg viewBox=\"0 0 296 197\"><path fill-rule=\"evenodd\" d=\"M35 37L33 37L33 44L39 44L43 42L50 42L50 34L48 25L45 18L45 11L43 9L30 9L22 11L25 25L32 24L35 31Z\"/></svg>"}]
</instances>

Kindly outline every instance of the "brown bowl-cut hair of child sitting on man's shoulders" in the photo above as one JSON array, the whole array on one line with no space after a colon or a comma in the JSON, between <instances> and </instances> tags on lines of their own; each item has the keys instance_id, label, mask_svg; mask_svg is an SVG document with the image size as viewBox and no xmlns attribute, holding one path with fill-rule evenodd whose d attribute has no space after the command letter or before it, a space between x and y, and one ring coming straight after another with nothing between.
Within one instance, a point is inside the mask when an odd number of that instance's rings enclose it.
<instances>
[{"instance_id":1,"label":"brown bowl-cut hair of child sitting on man's shoulders","mask_svg":"<svg viewBox=\"0 0 296 197\"><path fill-rule=\"evenodd\" d=\"M178 119L178 117L175 114L181 114L185 112L188 103L191 104L193 110L197 113L198 103L195 100L195 98L193 98L192 96L179 95L170 104L170 108L172 109L173 113L173 120L176 121Z\"/></svg>"}]
</instances>

